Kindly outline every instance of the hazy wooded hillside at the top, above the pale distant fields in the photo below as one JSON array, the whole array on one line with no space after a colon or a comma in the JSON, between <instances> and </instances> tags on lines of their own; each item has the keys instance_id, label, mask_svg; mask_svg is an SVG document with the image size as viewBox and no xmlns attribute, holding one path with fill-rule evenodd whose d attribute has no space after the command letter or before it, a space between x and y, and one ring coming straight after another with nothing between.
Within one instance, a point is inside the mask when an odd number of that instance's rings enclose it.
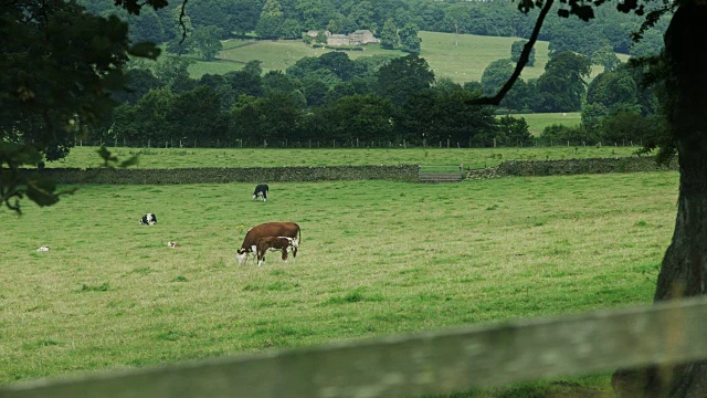
<instances>
[{"instance_id":1,"label":"hazy wooded hillside at the top, above the pale distant fields","mask_svg":"<svg viewBox=\"0 0 707 398\"><path fill-rule=\"evenodd\" d=\"M81 0L91 12L115 13L112 2ZM299 39L309 30L328 30L348 34L368 29L377 36L405 36L407 31L433 31L528 39L537 9L528 15L513 1L430 1L430 0L201 0L187 4L183 27L179 23L181 2L172 1L159 11L144 10L139 17L124 14L134 42L168 43L168 51L201 53L207 60L215 55L219 40L255 34L262 39ZM573 51L602 64L608 54L618 52L641 56L655 54L663 45L662 34L669 18L632 42L641 20L615 12L613 6L597 7L598 18L589 22L577 18L548 18L540 40L550 42L550 55ZM182 29L188 40L181 43Z\"/></svg>"}]
</instances>

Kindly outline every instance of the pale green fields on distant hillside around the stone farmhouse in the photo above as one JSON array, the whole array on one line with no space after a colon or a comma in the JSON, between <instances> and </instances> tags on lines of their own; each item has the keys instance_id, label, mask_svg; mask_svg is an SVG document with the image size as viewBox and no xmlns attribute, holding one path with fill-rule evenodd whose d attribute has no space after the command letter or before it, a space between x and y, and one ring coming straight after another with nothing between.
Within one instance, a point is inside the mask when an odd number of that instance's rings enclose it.
<instances>
[{"instance_id":1,"label":"pale green fields on distant hillside around the stone farmhouse","mask_svg":"<svg viewBox=\"0 0 707 398\"><path fill-rule=\"evenodd\" d=\"M437 77L450 77L454 82L464 83L481 81L486 66L500 59L510 57L510 45L520 40L518 38L481 36L473 34L460 34L458 45L453 33L420 32L421 53ZM539 77L548 61L548 42L536 43L535 66L524 70L523 78ZM251 60L263 62L263 69L284 71L304 56L319 56L333 50L313 49L300 40L277 41L243 41L230 40L223 43L224 50L218 55L218 61L197 62L190 66L192 77L200 77L205 73L223 74L236 71ZM374 54L404 55L401 51L383 50L378 44L368 44L363 51L349 51L349 57L358 59ZM622 61L627 55L616 54ZM592 76L601 73L603 67L593 66Z\"/></svg>"}]
</instances>

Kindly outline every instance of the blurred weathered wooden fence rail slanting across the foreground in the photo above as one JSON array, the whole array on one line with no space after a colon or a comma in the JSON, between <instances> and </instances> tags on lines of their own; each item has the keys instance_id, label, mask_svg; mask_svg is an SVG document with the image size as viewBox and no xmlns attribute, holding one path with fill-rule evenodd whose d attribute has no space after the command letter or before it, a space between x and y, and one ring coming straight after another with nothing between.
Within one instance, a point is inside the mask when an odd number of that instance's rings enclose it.
<instances>
[{"instance_id":1,"label":"blurred weathered wooden fence rail slanting across the foreground","mask_svg":"<svg viewBox=\"0 0 707 398\"><path fill-rule=\"evenodd\" d=\"M410 397L707 358L707 301L191 362L0 389L0 397Z\"/></svg>"}]
</instances>

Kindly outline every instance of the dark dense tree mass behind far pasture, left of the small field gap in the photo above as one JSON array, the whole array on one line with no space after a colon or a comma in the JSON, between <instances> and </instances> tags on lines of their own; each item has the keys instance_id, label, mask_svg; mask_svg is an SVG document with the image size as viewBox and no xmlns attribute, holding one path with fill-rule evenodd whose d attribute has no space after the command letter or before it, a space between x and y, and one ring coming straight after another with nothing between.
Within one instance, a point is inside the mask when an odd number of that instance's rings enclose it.
<instances>
[{"instance_id":1,"label":"dark dense tree mass behind far pasture, left of the small field gap","mask_svg":"<svg viewBox=\"0 0 707 398\"><path fill-rule=\"evenodd\" d=\"M155 73L129 70L131 90L116 97L123 104L83 139L200 147L532 144L525 121L468 105L482 95L479 84L435 80L414 54L352 61L330 52L267 73L252 61L242 71L199 80L187 66L171 59Z\"/></svg>"}]
</instances>

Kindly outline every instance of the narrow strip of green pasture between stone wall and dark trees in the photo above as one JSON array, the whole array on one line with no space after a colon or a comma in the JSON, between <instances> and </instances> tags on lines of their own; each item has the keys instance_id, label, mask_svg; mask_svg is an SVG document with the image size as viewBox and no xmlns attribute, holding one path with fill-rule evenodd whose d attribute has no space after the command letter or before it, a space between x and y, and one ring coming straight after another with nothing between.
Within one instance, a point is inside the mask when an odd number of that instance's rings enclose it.
<instances>
[{"instance_id":1,"label":"narrow strip of green pasture between stone wall and dark trees","mask_svg":"<svg viewBox=\"0 0 707 398\"><path fill-rule=\"evenodd\" d=\"M315 143L316 145L316 143ZM446 146L446 143L444 143ZM484 168L504 160L544 160L633 156L639 147L525 147L525 148L393 148L393 149L263 149L263 148L125 148L108 147L124 160L139 156L138 168L184 167L285 167L422 165ZM78 146L46 167L93 168L101 166L97 147Z\"/></svg>"}]
</instances>

